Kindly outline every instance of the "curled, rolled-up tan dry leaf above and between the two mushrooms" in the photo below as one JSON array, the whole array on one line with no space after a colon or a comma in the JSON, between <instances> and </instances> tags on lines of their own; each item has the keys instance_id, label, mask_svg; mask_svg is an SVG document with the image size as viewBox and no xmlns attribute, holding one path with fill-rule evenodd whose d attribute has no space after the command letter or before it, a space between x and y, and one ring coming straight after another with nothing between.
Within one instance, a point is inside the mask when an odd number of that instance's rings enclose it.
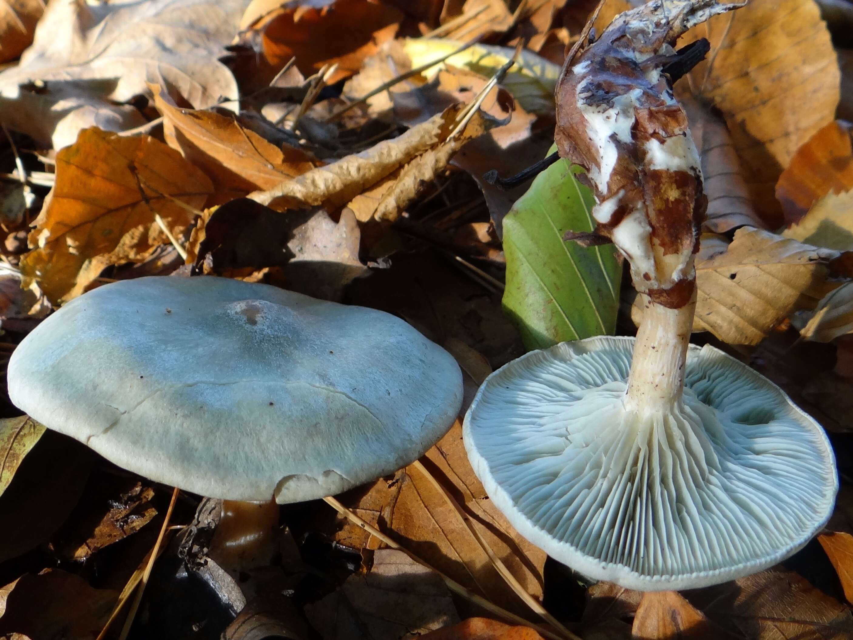
<instances>
[{"instance_id":1,"label":"curled, rolled-up tan dry leaf above and between the two mushrooms","mask_svg":"<svg viewBox=\"0 0 853 640\"><path fill-rule=\"evenodd\" d=\"M357 195L371 189L381 180L390 178L386 191L368 207L363 215L368 219L394 219L404 201L414 197L421 180L432 180L435 172L443 169L452 154L473 136L486 131L490 119L482 113L474 114L465 131L448 141L456 116L462 105L454 105L444 113L428 119L403 135L378 143L360 154L348 155L327 166L279 184L273 189L257 191L249 197L274 209L323 207L328 212L337 211ZM363 209L357 203L356 207ZM360 217L360 216L359 216Z\"/></svg>"}]
</instances>

